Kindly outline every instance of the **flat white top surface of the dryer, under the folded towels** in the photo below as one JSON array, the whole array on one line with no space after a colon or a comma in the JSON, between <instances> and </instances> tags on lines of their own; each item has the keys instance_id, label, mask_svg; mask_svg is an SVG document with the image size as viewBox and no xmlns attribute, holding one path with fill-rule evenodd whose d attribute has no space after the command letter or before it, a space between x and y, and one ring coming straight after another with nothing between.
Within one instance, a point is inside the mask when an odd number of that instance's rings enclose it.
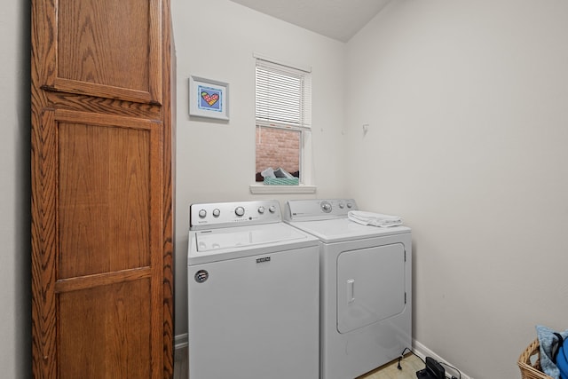
<instances>
[{"instance_id":1,"label":"flat white top surface of the dryer, under the folded towels","mask_svg":"<svg viewBox=\"0 0 568 379\"><path fill-rule=\"evenodd\" d=\"M407 226L377 227L360 225L349 218L336 218L319 221L290 222L304 232L311 233L323 242L339 242L359 240L361 238L379 237L393 234L410 233Z\"/></svg>"}]
</instances>

